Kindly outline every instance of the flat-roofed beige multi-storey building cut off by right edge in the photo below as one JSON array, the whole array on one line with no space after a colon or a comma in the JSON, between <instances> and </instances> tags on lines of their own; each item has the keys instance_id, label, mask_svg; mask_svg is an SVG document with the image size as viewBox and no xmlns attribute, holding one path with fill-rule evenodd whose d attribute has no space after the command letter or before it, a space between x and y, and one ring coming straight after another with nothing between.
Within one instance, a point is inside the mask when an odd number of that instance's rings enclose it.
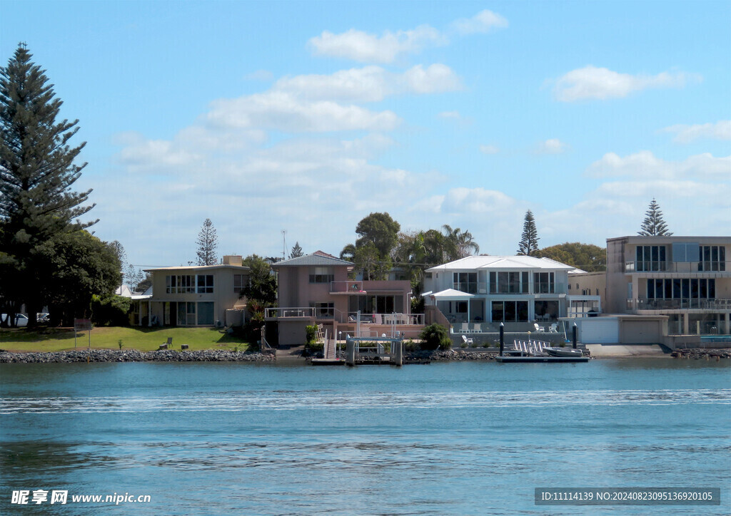
<instances>
[{"instance_id":1,"label":"flat-roofed beige multi-storey building cut off by right edge","mask_svg":"<svg viewBox=\"0 0 731 516\"><path fill-rule=\"evenodd\" d=\"M607 239L607 310L664 315L668 334L730 334L731 236Z\"/></svg>"}]
</instances>

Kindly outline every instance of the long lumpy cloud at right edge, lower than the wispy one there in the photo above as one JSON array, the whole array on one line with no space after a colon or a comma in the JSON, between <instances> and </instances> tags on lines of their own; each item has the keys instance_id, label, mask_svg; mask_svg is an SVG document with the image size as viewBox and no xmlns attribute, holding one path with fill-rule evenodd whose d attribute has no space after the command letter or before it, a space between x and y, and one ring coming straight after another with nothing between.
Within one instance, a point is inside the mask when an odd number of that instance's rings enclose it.
<instances>
[{"instance_id":1,"label":"long lumpy cloud at right edge, lower than the wispy one there","mask_svg":"<svg viewBox=\"0 0 731 516\"><path fill-rule=\"evenodd\" d=\"M622 158L607 153L588 166L590 177L644 177L657 180L705 178L728 180L731 177L731 156L716 158L710 153L689 156L683 161L665 161L651 151L642 150Z\"/></svg>"}]
</instances>

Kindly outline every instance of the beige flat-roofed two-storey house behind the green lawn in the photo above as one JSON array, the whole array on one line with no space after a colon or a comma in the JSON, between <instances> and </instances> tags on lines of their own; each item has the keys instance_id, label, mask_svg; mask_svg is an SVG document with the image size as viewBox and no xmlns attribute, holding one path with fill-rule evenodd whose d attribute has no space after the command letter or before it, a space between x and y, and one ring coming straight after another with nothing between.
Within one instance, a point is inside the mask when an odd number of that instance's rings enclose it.
<instances>
[{"instance_id":1,"label":"beige flat-roofed two-storey house behind the green lawn","mask_svg":"<svg viewBox=\"0 0 731 516\"><path fill-rule=\"evenodd\" d=\"M140 326L238 326L246 301L240 293L249 282L249 267L241 257L224 256L223 263L148 269L151 293L141 296Z\"/></svg>"}]
</instances>

